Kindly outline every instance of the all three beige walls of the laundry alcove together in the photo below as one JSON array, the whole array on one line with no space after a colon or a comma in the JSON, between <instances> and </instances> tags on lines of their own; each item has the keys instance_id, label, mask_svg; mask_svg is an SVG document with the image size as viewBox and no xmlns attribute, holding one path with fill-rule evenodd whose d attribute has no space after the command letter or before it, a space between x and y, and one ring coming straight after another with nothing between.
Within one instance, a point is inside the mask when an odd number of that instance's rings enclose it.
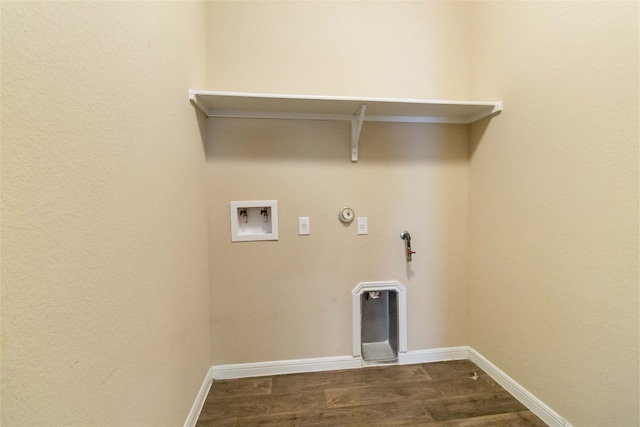
<instances>
[{"instance_id":1,"label":"all three beige walls of the laundry alcove together","mask_svg":"<svg viewBox=\"0 0 640 427\"><path fill-rule=\"evenodd\" d=\"M350 291L388 279L410 350L469 344L575 425L639 424L637 2L1 12L3 425L181 424L212 363L350 354ZM188 87L505 112L366 123L353 164L344 123L209 120L203 148ZM229 201L262 198L280 240L231 243Z\"/></svg>"}]
</instances>

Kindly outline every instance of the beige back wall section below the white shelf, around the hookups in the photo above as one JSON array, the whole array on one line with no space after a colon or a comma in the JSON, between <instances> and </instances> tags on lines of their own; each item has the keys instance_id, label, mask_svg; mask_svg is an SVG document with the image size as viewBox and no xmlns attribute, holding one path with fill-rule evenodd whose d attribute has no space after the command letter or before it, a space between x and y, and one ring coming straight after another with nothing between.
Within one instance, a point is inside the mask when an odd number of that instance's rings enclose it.
<instances>
[{"instance_id":1,"label":"beige back wall section below the white shelf, around the hookups","mask_svg":"<svg viewBox=\"0 0 640 427\"><path fill-rule=\"evenodd\" d=\"M207 141L214 364L351 355L351 291L407 288L408 349L467 342L468 129L210 120ZM229 201L277 199L278 241L231 242ZM369 234L348 205L366 216ZM311 234L298 236L298 217ZM407 264L400 232L417 252Z\"/></svg>"}]
</instances>

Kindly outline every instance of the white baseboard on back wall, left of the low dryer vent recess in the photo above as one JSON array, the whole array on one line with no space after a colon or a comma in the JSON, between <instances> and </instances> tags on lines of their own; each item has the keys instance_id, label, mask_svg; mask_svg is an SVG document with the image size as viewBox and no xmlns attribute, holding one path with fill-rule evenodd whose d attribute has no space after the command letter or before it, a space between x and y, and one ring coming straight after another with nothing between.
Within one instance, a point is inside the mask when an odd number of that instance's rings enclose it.
<instances>
[{"instance_id":1,"label":"white baseboard on back wall, left of the low dryer vent recess","mask_svg":"<svg viewBox=\"0 0 640 427\"><path fill-rule=\"evenodd\" d=\"M274 362L238 363L212 366L215 379L263 377L266 375L301 372L334 371L360 368L360 358L353 356L319 357L314 359L279 360Z\"/></svg>"}]
</instances>

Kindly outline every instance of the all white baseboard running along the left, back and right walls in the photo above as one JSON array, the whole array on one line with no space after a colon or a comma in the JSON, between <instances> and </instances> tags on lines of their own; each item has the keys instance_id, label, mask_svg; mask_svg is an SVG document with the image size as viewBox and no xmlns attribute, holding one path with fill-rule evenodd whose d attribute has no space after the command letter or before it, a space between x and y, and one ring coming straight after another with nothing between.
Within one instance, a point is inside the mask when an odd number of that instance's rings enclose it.
<instances>
[{"instance_id":1,"label":"all white baseboard running along the left, back and right walls","mask_svg":"<svg viewBox=\"0 0 640 427\"><path fill-rule=\"evenodd\" d=\"M502 372L497 366L487 360L471 347L446 347L430 350L414 350L398 355L398 364L411 365L416 363L442 362L447 360L469 359L486 372L505 390L511 393L520 403L536 414L551 427L572 427L557 412L535 397L515 380ZM202 383L200 392L191 408L184 427L193 427L202 410L209 388L214 379L232 379L245 377L260 377L267 375L293 374L302 372L333 371L340 369L354 369L363 366L362 359L353 356L320 357L313 359L280 360L274 362L238 363L232 365L215 365L209 369Z\"/></svg>"}]
</instances>

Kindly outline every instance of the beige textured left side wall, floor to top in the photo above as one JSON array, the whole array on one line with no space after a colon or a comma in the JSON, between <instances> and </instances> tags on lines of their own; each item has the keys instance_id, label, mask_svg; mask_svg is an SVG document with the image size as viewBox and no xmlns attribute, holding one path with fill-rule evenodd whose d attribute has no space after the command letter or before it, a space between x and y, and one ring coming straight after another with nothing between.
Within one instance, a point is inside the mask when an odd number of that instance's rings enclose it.
<instances>
[{"instance_id":1,"label":"beige textured left side wall, floor to top","mask_svg":"<svg viewBox=\"0 0 640 427\"><path fill-rule=\"evenodd\" d=\"M2 2L3 426L181 425L210 365L204 4Z\"/></svg>"}]
</instances>

